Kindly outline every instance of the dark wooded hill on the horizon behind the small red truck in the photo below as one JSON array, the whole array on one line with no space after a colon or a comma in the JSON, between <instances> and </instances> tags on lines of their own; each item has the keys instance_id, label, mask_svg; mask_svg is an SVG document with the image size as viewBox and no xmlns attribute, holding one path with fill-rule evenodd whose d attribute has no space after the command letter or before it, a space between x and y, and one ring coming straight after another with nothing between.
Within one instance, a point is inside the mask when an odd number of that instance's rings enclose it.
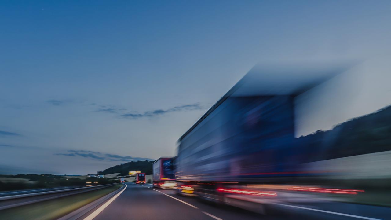
<instances>
[{"instance_id":1,"label":"dark wooded hill on the horizon behind the small red truck","mask_svg":"<svg viewBox=\"0 0 391 220\"><path fill-rule=\"evenodd\" d=\"M151 175L152 163L153 161L148 161L148 160L131 161L125 164L112 166L110 168L107 168L106 170L99 171L98 174L106 175L111 173L119 173L118 176L124 176L124 175L128 175L129 171L140 170L142 173L145 173L145 175Z\"/></svg>"}]
</instances>

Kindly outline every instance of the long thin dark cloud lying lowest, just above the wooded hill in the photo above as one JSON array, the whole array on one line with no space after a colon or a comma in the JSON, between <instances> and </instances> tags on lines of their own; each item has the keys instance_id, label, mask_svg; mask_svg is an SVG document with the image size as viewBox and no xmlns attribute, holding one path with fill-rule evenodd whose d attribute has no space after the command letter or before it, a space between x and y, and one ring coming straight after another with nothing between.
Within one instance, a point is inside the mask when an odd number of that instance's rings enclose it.
<instances>
[{"instance_id":1,"label":"long thin dark cloud lying lowest, just above the wooded hill","mask_svg":"<svg viewBox=\"0 0 391 220\"><path fill-rule=\"evenodd\" d=\"M131 157L131 156L120 156L116 154L109 153L100 153L97 151L86 151L86 150L68 150L67 153L55 153L57 156L66 156L66 157L84 157L94 160L104 160L104 161L137 161L137 160L152 160L149 158L143 157Z\"/></svg>"}]
</instances>

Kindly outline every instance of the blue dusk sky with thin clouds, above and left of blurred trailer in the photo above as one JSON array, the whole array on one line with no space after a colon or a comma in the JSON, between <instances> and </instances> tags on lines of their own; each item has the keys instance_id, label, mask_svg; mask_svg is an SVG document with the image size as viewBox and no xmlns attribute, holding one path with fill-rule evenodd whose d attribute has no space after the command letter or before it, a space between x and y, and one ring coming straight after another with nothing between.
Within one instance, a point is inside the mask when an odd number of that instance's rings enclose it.
<instances>
[{"instance_id":1,"label":"blue dusk sky with thin clouds, above and left of blurred trailer","mask_svg":"<svg viewBox=\"0 0 391 220\"><path fill-rule=\"evenodd\" d=\"M390 12L391 1L1 1L0 174L174 156L259 61L388 52Z\"/></svg>"}]
</instances>

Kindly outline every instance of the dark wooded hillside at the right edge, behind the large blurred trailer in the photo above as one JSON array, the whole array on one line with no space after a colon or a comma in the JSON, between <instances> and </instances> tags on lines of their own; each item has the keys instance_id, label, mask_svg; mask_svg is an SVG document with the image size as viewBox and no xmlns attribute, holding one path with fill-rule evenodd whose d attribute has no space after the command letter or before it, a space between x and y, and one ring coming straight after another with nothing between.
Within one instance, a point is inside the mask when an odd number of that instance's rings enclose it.
<instances>
[{"instance_id":1,"label":"dark wooded hillside at the right edge, behind the large blurred trailer","mask_svg":"<svg viewBox=\"0 0 391 220\"><path fill-rule=\"evenodd\" d=\"M338 124L331 130L311 133L294 140L294 152L303 162L349 157L391 150L391 106ZM311 155L311 156L308 156Z\"/></svg>"}]
</instances>

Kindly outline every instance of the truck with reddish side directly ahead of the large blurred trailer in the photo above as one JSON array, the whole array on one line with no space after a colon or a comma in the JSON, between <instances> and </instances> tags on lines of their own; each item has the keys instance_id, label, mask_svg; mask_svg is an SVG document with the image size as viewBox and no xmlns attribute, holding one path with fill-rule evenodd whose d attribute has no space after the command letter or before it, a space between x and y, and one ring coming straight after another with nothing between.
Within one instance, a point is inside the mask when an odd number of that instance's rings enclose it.
<instances>
[{"instance_id":1,"label":"truck with reddish side directly ahead of the large blurred trailer","mask_svg":"<svg viewBox=\"0 0 391 220\"><path fill-rule=\"evenodd\" d=\"M162 189L175 188L174 177L175 157L161 157L152 164L153 186Z\"/></svg>"}]
</instances>

